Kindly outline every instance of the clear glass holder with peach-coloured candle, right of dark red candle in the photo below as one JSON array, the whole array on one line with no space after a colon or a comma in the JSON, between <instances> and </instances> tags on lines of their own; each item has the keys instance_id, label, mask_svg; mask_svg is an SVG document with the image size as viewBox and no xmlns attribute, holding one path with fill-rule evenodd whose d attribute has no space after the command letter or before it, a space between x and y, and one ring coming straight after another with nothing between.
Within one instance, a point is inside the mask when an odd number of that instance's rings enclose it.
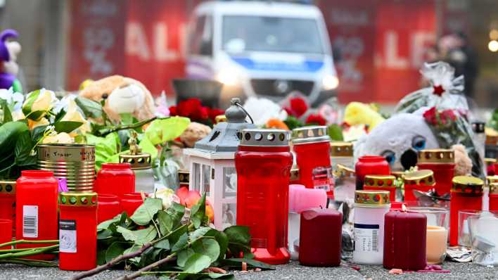
<instances>
[{"instance_id":1,"label":"clear glass holder with peach-coloured candle, right of dark red candle","mask_svg":"<svg viewBox=\"0 0 498 280\"><path fill-rule=\"evenodd\" d=\"M420 212L427 217L427 263L442 263L446 258L449 210L436 207L412 207L409 210Z\"/></svg>"}]
</instances>

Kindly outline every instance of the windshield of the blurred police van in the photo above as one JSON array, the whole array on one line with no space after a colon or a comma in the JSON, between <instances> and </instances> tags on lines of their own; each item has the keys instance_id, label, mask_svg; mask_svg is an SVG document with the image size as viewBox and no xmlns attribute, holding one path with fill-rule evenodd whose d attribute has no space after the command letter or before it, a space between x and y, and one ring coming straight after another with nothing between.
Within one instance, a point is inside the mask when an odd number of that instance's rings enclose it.
<instances>
[{"instance_id":1,"label":"windshield of the blurred police van","mask_svg":"<svg viewBox=\"0 0 498 280\"><path fill-rule=\"evenodd\" d=\"M309 18L225 15L222 47L230 53L324 53L317 21Z\"/></svg>"}]
</instances>

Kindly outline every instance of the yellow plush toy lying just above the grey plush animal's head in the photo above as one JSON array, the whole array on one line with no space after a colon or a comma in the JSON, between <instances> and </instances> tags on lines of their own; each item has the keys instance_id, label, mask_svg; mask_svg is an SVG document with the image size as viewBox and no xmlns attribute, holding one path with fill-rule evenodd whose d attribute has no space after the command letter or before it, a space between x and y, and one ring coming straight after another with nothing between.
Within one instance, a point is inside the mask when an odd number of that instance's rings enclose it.
<instances>
[{"instance_id":1,"label":"yellow plush toy lying just above the grey plush animal's head","mask_svg":"<svg viewBox=\"0 0 498 280\"><path fill-rule=\"evenodd\" d=\"M369 132L384 120L381 114L365 103L351 102L345 108L344 122L350 126L366 125Z\"/></svg>"}]
</instances>

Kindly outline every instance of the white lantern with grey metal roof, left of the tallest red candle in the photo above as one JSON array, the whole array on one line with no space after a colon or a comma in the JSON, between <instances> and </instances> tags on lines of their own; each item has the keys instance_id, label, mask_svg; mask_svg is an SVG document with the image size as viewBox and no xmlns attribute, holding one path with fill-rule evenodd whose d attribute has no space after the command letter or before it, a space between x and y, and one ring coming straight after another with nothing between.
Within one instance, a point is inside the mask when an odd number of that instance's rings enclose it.
<instances>
[{"instance_id":1,"label":"white lantern with grey metal roof, left of the tallest red candle","mask_svg":"<svg viewBox=\"0 0 498 280\"><path fill-rule=\"evenodd\" d=\"M206 193L215 212L215 227L224 229L236 224L237 172L234 156L241 131L255 125L245 122L247 114L240 106L240 99L232 98L226 109L226 122L219 122L212 132L186 148L189 155L189 189Z\"/></svg>"}]
</instances>

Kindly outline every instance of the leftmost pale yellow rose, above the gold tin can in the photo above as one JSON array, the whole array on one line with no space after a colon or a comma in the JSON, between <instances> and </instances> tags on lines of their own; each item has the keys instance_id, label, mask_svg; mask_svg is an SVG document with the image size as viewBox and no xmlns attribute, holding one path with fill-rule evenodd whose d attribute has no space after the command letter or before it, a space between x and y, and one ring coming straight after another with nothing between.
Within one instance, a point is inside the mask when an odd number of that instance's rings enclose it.
<instances>
[{"instance_id":1,"label":"leftmost pale yellow rose, above the gold tin can","mask_svg":"<svg viewBox=\"0 0 498 280\"><path fill-rule=\"evenodd\" d=\"M56 94L53 91L39 89L32 91L23 104L23 113L30 120L40 120L46 112L51 110Z\"/></svg>"}]
</instances>

